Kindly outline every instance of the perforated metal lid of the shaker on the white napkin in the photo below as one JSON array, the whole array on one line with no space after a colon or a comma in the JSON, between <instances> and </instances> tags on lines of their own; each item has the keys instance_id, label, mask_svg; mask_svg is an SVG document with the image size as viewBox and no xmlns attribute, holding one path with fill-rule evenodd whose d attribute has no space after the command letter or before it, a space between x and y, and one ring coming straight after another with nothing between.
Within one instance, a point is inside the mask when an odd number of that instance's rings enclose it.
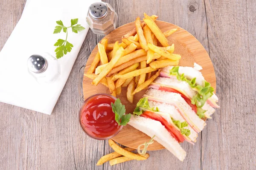
<instances>
[{"instance_id":1,"label":"perforated metal lid of the shaker on the white napkin","mask_svg":"<svg viewBox=\"0 0 256 170\"><path fill-rule=\"evenodd\" d=\"M43 73L48 67L48 62L43 56L35 54L29 57L27 66L34 73Z\"/></svg>"}]
</instances>

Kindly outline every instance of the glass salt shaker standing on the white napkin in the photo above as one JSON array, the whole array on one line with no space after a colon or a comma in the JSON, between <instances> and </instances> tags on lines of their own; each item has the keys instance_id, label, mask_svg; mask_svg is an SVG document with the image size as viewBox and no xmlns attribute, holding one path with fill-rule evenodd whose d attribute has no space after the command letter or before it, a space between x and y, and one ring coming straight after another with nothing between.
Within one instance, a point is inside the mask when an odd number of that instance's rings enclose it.
<instances>
[{"instance_id":1,"label":"glass salt shaker standing on the white napkin","mask_svg":"<svg viewBox=\"0 0 256 170\"><path fill-rule=\"evenodd\" d=\"M54 82L60 75L58 60L49 53L34 54L27 60L29 74L38 82Z\"/></svg>"}]
</instances>

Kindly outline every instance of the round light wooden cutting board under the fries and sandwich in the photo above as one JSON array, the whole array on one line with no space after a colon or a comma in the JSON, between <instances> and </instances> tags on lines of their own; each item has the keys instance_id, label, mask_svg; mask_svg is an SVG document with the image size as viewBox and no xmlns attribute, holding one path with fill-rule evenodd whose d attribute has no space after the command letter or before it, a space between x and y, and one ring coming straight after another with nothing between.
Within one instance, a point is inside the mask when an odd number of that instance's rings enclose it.
<instances>
[{"instance_id":1,"label":"round light wooden cutting board under the fries and sandwich","mask_svg":"<svg viewBox=\"0 0 256 170\"><path fill-rule=\"evenodd\" d=\"M172 45L172 43L174 43L175 45L174 53L181 55L179 65L193 67L194 62L201 65L203 68L201 72L204 78L208 82L210 82L212 87L215 89L216 79L215 79L214 68L213 68L211 59L207 54L207 51L204 49L201 43L183 28L180 28L171 23L166 23L163 21L156 21L156 23L162 32L172 28L177 28L177 31L171 36L167 37L167 40L169 41L169 45ZM105 38L108 38L108 43L114 43L117 40L119 42L122 42L121 40L122 36L126 34L128 31L131 31L133 28L135 28L134 22L125 24L123 26L120 26L119 28L116 28L114 31L108 34ZM97 52L98 52L98 46L96 46L93 49L92 53L90 54L90 57L84 69L84 73L86 73L87 70L89 69ZM95 86L95 85L92 85L91 82L92 82L92 79L89 79L84 76L84 79L83 79L84 99L87 99L89 96L93 94L99 94L99 93L110 94L108 88L106 88L104 85L99 84ZM143 96L143 94L145 93L145 90L140 91L139 93L134 95L134 103L128 102L128 100L126 99L126 92L127 92L126 88L122 88L122 93L120 96L117 96L117 98L119 98L122 104L125 105L126 113L133 113L137 102ZM147 136L145 133L142 133L139 130L135 129L134 127L131 127L130 125L126 125L115 137L113 137L113 140L115 140L116 142L122 145L125 145L126 147L137 148L138 145L143 144L146 141L149 141L150 137ZM161 144L157 143L156 141L153 144L148 146L148 150L160 150L160 149L164 149L164 147Z\"/></svg>"}]
</instances>

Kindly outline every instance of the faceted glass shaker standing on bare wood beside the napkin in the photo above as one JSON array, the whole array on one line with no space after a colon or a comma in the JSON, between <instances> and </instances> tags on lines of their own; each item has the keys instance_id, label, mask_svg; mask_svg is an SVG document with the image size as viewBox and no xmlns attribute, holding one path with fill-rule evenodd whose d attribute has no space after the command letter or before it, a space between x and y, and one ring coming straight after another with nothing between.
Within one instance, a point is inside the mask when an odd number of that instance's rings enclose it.
<instances>
[{"instance_id":1,"label":"faceted glass shaker standing on bare wood beside the napkin","mask_svg":"<svg viewBox=\"0 0 256 170\"><path fill-rule=\"evenodd\" d=\"M89 7L86 21L94 34L107 35L116 29L118 17L109 3L96 2Z\"/></svg>"}]
</instances>

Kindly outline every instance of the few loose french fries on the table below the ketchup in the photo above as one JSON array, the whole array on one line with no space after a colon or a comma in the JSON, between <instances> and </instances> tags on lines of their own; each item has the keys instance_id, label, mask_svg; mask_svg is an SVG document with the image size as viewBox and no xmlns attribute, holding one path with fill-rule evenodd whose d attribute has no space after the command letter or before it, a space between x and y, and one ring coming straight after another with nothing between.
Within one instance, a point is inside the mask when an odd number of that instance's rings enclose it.
<instances>
[{"instance_id":1,"label":"few loose french fries on the table below the ketchup","mask_svg":"<svg viewBox=\"0 0 256 170\"><path fill-rule=\"evenodd\" d=\"M132 153L132 151L136 149L133 149L130 147L122 148L118 144L116 144L112 139L108 140L108 144L113 148L115 152L102 156L96 165L102 165L105 162L109 161L109 164L112 166L114 164L119 164L125 161L131 161L134 159L146 160L149 158L148 153L145 153L144 155L140 155L139 153Z\"/></svg>"}]
</instances>

